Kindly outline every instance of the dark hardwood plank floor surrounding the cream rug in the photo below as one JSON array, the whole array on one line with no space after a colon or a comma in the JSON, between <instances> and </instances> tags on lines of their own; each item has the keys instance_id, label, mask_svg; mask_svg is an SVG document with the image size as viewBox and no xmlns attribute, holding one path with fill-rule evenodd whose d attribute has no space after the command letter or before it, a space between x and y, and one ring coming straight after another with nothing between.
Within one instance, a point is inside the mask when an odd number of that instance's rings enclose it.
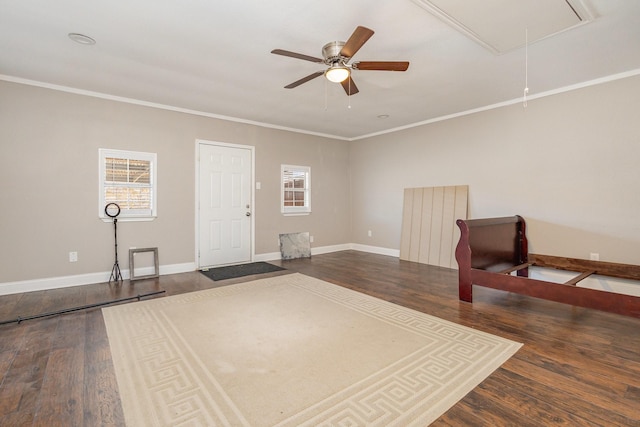
<instances>
[{"instance_id":1,"label":"dark hardwood plank floor surrounding the cream rug","mask_svg":"<svg viewBox=\"0 0 640 427\"><path fill-rule=\"evenodd\" d=\"M260 277L300 272L524 343L435 426L640 426L640 319L480 287L464 303L456 271L363 252L274 264L287 271ZM7 295L0 321L254 278L193 272ZM0 426L101 425L124 421L99 308L0 326Z\"/></svg>"}]
</instances>

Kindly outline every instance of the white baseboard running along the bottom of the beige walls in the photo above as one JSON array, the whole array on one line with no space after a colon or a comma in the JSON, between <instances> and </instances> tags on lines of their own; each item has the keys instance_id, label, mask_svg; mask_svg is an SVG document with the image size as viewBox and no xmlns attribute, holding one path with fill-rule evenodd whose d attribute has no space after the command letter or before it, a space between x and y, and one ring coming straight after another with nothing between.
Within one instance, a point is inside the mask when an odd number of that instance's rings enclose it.
<instances>
[{"instance_id":1,"label":"white baseboard running along the bottom of the beige walls","mask_svg":"<svg viewBox=\"0 0 640 427\"><path fill-rule=\"evenodd\" d=\"M321 246L311 248L311 255L321 255L331 252L339 252L346 250L356 250L362 252L370 252L379 255L388 255L398 258L400 250L380 248L377 246L361 245L357 243L346 243L343 245ZM269 252L264 254L256 254L254 261L275 261L280 259L280 252ZM147 271L148 270L148 271ZM183 264L161 265L160 275L186 273L195 271L195 262L187 262ZM122 278L128 279L129 270L122 270ZM136 268L136 275L147 275L153 273L153 267ZM47 277L44 279L22 280L18 282L0 283L0 295L17 294L22 292L44 291L47 289L68 288L71 286L91 285L94 283L106 283L111 276L110 271L99 273L78 274L75 276Z\"/></svg>"}]
</instances>

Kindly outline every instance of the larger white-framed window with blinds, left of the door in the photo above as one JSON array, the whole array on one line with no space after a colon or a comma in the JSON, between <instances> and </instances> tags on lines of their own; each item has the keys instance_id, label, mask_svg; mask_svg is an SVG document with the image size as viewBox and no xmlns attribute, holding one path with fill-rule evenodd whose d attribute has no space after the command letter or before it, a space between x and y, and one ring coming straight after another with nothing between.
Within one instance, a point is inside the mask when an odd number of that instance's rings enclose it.
<instances>
[{"instance_id":1,"label":"larger white-framed window with blinds, left of the door","mask_svg":"<svg viewBox=\"0 0 640 427\"><path fill-rule=\"evenodd\" d=\"M157 216L156 154L98 150L100 157L99 217L109 219L104 208L120 206L118 219L150 220Z\"/></svg>"}]
</instances>

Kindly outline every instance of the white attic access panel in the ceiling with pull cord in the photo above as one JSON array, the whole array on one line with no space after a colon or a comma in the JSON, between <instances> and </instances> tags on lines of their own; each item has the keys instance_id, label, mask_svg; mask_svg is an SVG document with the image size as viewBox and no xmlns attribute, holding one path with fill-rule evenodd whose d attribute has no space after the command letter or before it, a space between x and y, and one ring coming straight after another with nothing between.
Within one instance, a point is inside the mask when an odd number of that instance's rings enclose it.
<instances>
[{"instance_id":1,"label":"white attic access panel in the ceiling with pull cord","mask_svg":"<svg viewBox=\"0 0 640 427\"><path fill-rule=\"evenodd\" d=\"M413 0L495 54L586 24L584 0Z\"/></svg>"}]
</instances>

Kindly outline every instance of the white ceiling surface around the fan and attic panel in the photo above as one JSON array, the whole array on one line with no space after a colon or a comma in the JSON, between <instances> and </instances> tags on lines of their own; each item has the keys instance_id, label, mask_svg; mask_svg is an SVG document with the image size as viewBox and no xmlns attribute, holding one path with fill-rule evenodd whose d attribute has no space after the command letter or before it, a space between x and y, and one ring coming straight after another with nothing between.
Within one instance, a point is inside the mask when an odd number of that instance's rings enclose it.
<instances>
[{"instance_id":1,"label":"white ceiling surface around the fan and attic panel","mask_svg":"<svg viewBox=\"0 0 640 427\"><path fill-rule=\"evenodd\" d=\"M521 99L525 69L530 98L640 73L640 1L580 3L592 22L496 55L412 0L0 0L0 78L354 139ZM271 50L322 57L358 25L375 34L354 60L408 71L355 70L351 97L322 77L284 89L322 67Z\"/></svg>"}]
</instances>

